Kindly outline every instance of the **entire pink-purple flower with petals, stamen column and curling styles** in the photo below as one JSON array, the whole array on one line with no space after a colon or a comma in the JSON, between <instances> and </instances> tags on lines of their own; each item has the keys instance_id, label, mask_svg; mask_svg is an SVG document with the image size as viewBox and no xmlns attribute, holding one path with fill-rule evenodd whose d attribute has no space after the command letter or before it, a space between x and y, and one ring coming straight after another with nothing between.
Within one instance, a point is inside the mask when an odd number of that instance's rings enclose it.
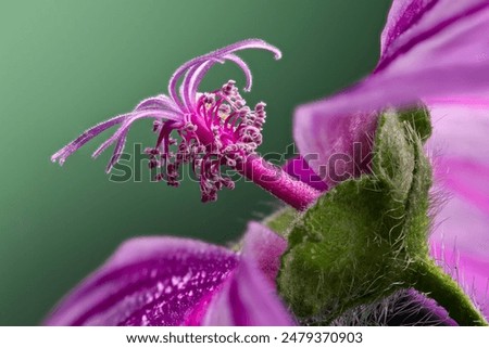
<instances>
[{"instance_id":1,"label":"entire pink-purple flower with petals, stamen column and curling styles","mask_svg":"<svg viewBox=\"0 0 489 348\"><path fill-rule=\"evenodd\" d=\"M381 36L375 70L352 88L302 105L294 117L294 138L304 159L274 182L256 159L264 104L243 108L234 82L211 93L197 93L206 70L216 62L247 65L235 55L242 48L278 51L261 40L238 42L184 64L171 79L170 96L159 95L82 134L53 155L63 163L103 130L120 129L95 153L115 142L109 169L117 160L133 121L156 118L158 141L149 149L161 179L178 183L177 168L190 164L200 180L202 199L233 188L217 168L226 165L298 209L304 209L337 182L367 172L371 137L377 114L422 101L430 109L435 130L428 151L436 150L436 178L450 194L436 216L431 255L453 274L489 317L486 302L489 274L489 157L482 143L489 124L489 2L482 0L394 0ZM185 75L185 76L184 76ZM183 77L181 88L176 86ZM475 99L479 95L479 99ZM227 105L227 106L223 106ZM223 106L223 107L222 107ZM469 115L465 115L469 114ZM486 115L489 116L489 115ZM463 127L460 123L463 121ZM171 132L183 137L178 154ZM355 156L355 143L364 155ZM316 154L317 157L310 155ZM342 154L341 160L331 155ZM218 162L213 162L217 155ZM338 177L338 173L340 175ZM293 321L275 295L274 280L285 241L251 223L242 253L202 242L171 237L129 241L96 273L70 294L48 318L52 325L288 325Z\"/></svg>"}]
</instances>

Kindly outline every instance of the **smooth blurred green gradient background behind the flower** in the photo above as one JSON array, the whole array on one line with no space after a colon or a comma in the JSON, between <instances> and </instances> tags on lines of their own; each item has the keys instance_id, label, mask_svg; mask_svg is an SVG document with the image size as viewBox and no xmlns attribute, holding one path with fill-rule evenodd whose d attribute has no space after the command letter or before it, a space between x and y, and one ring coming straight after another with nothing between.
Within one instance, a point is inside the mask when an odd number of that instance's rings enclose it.
<instances>
[{"instance_id":1,"label":"smooth blurred green gradient background behind the flower","mask_svg":"<svg viewBox=\"0 0 489 348\"><path fill-rule=\"evenodd\" d=\"M249 104L267 103L261 152L292 142L293 108L365 76L378 56L390 1L0 0L0 325L35 325L124 240L172 234L229 243L278 203L251 183L201 204L198 185L114 183L110 152L64 167L49 158L86 128L166 92L187 60L244 38L281 49L243 52ZM204 80L243 78L229 63ZM151 121L128 144L150 145ZM131 152L128 146L126 151Z\"/></svg>"}]
</instances>

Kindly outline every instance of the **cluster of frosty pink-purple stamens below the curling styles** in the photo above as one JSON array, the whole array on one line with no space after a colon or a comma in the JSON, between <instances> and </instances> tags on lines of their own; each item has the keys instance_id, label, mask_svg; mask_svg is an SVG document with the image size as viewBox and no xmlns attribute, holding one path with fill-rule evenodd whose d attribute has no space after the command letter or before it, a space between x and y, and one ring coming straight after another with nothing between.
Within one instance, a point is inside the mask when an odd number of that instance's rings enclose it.
<instances>
[{"instance_id":1,"label":"cluster of frosty pink-purple stamens below the curling styles","mask_svg":"<svg viewBox=\"0 0 489 348\"><path fill-rule=\"evenodd\" d=\"M154 123L156 145L146 152L150 168L160 168L156 180L177 186L180 166L190 164L200 182L202 202L216 201L222 188L234 189L223 168L236 170L255 152L266 117L265 103L258 103L252 111L235 83L229 80L214 92L198 95L196 108L184 121ZM171 137L174 131L178 140Z\"/></svg>"}]
</instances>

